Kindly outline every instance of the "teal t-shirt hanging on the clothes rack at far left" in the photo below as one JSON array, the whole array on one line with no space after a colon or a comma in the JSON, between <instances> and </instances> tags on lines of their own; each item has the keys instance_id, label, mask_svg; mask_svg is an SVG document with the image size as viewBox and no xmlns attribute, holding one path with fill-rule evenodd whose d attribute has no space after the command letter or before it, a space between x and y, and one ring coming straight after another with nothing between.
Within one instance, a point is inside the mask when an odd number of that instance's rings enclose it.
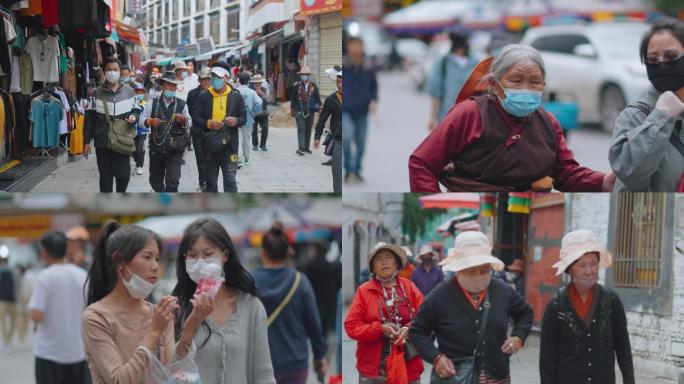
<instances>
[{"instance_id":1,"label":"teal t-shirt hanging on the clothes rack at far left","mask_svg":"<svg viewBox=\"0 0 684 384\"><path fill-rule=\"evenodd\" d=\"M59 143L59 122L64 117L62 103L42 96L31 102L29 120L33 123L33 147L52 148Z\"/></svg>"}]
</instances>

